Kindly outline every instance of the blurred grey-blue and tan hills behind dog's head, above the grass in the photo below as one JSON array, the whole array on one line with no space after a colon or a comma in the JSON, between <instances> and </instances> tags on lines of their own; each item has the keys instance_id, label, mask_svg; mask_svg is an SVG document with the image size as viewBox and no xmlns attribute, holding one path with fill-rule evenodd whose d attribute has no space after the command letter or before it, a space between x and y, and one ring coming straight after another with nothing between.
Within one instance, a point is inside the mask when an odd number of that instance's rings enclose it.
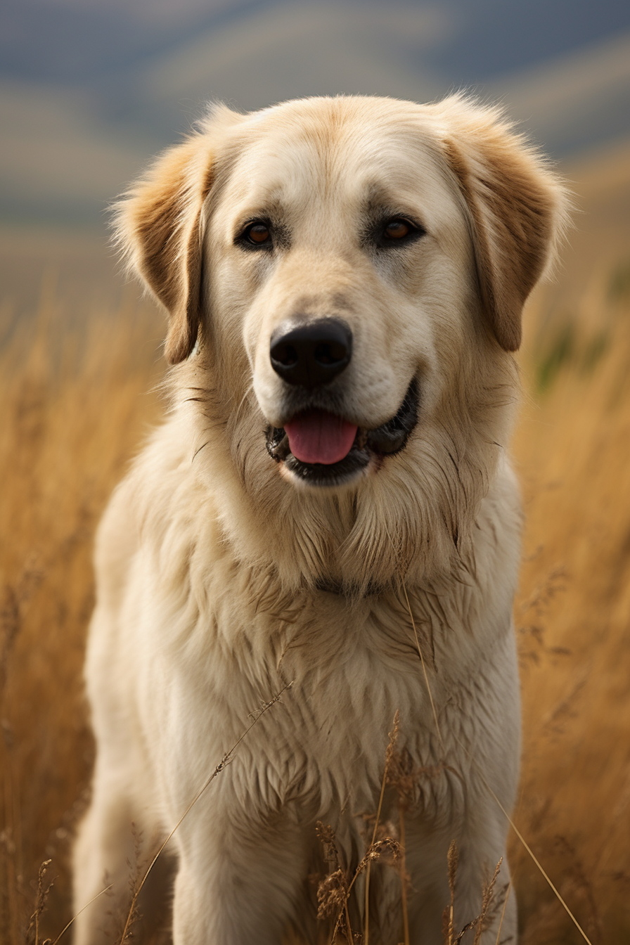
<instances>
[{"instance_id":1,"label":"blurred grey-blue and tan hills behind dog's head, above the grass","mask_svg":"<svg viewBox=\"0 0 630 945\"><path fill-rule=\"evenodd\" d=\"M627 241L630 7L619 0L5 0L3 322L32 310L44 270L72 307L120 293L107 206L208 99L249 111L308 94L429 101L458 88L501 101L570 178L590 153L600 209L574 238L621 228Z\"/></svg>"}]
</instances>

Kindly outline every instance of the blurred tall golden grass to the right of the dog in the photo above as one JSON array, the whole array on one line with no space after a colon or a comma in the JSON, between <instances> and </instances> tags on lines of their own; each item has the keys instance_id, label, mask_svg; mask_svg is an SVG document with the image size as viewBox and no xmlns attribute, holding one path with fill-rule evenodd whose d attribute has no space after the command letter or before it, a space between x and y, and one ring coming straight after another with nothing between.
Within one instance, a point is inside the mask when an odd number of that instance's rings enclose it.
<instances>
[{"instance_id":1,"label":"blurred tall golden grass to the right of the dog","mask_svg":"<svg viewBox=\"0 0 630 945\"><path fill-rule=\"evenodd\" d=\"M630 279L623 271L592 286L570 352L547 389L524 404L514 443L527 523L515 610L525 732L515 819L593 943L630 936ZM543 327L544 303L532 314L537 337L524 370L536 378L559 329ZM523 945L578 941L516 844L512 862Z\"/></svg>"}]
</instances>

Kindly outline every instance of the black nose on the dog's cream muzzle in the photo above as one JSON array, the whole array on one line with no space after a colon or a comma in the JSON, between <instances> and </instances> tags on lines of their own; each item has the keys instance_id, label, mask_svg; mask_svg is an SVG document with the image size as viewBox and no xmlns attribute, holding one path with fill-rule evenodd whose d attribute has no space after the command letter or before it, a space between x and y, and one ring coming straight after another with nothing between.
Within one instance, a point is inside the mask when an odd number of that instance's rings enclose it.
<instances>
[{"instance_id":1,"label":"black nose on the dog's cream muzzle","mask_svg":"<svg viewBox=\"0 0 630 945\"><path fill-rule=\"evenodd\" d=\"M287 384L329 384L349 364L352 333L344 321L319 318L271 336L271 366Z\"/></svg>"}]
</instances>

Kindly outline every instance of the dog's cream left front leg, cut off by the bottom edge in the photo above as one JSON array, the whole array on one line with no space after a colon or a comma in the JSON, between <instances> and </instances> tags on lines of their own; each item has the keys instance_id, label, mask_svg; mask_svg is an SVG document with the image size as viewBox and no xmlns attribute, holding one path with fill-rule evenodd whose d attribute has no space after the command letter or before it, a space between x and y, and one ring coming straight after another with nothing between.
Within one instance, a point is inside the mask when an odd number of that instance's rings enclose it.
<instances>
[{"instance_id":1,"label":"dog's cream left front leg, cut off by the bottom edge","mask_svg":"<svg viewBox=\"0 0 630 945\"><path fill-rule=\"evenodd\" d=\"M306 874L295 819L208 804L178 846L174 945L280 945Z\"/></svg>"}]
</instances>

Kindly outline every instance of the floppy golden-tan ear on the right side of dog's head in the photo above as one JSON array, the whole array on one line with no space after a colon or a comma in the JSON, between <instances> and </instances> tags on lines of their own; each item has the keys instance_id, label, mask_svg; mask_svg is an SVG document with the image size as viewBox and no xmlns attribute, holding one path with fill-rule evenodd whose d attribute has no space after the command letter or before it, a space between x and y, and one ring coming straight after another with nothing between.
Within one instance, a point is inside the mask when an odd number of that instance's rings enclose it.
<instances>
[{"instance_id":1,"label":"floppy golden-tan ear on the right side of dog's head","mask_svg":"<svg viewBox=\"0 0 630 945\"><path fill-rule=\"evenodd\" d=\"M502 348L517 351L522 307L566 225L567 192L499 109L460 95L437 108L447 160L468 205L485 312Z\"/></svg>"}]
</instances>

